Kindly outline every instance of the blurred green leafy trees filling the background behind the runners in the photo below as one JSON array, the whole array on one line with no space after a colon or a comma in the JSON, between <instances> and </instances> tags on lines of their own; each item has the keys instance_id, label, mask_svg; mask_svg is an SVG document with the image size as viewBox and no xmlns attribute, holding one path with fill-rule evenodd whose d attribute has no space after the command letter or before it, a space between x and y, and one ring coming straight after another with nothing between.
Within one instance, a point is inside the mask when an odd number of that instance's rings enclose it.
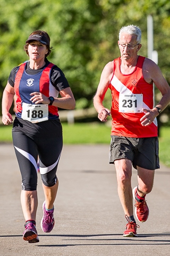
<instances>
[{"instance_id":1,"label":"blurred green leafy trees filling the background behind the runners","mask_svg":"<svg viewBox=\"0 0 170 256\"><path fill-rule=\"evenodd\" d=\"M117 40L122 26L141 28L140 54L147 56L148 14L154 18L158 65L170 83L169 13L168 0L0 0L0 97L11 69L28 59L23 51L28 35L43 29L54 47L48 59L64 71L77 108L92 106L101 71L120 56ZM107 97L110 106L109 93Z\"/></svg>"}]
</instances>

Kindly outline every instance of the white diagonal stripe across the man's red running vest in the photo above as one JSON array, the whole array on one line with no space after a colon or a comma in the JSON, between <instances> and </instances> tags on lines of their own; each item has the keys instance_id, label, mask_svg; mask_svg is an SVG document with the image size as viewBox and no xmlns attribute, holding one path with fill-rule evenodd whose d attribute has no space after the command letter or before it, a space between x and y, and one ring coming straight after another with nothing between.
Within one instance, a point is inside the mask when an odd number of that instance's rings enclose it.
<instances>
[{"instance_id":1,"label":"white diagonal stripe across the man's red running vest","mask_svg":"<svg viewBox=\"0 0 170 256\"><path fill-rule=\"evenodd\" d=\"M126 94L126 95L134 94L120 80L118 80L118 78L115 75L112 78L111 84L116 89L116 91L119 93ZM143 108L149 109L149 107L144 102L143 102ZM145 113L145 112L143 111L143 113ZM156 126L158 126L156 118L154 119L153 123Z\"/></svg>"}]
</instances>

